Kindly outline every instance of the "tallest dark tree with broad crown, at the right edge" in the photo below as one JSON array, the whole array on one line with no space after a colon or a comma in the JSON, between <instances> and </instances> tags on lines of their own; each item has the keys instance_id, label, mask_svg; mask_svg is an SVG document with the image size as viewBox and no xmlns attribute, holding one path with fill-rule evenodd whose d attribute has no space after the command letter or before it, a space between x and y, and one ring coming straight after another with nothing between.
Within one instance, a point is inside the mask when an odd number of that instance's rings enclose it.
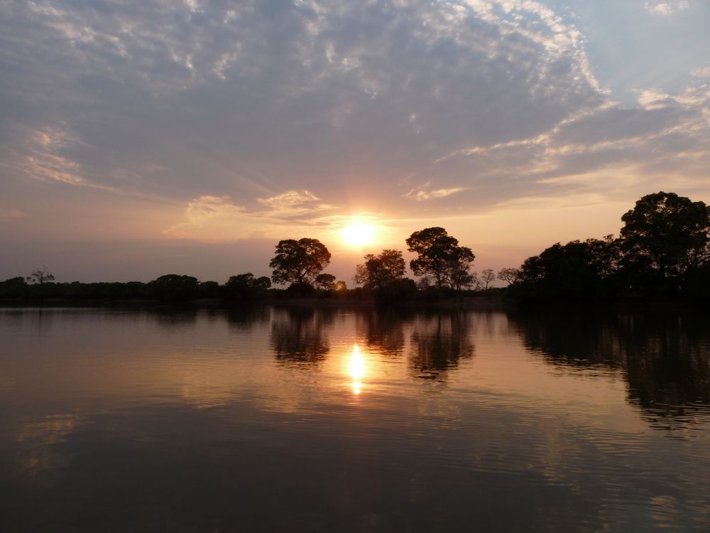
<instances>
[{"instance_id":1,"label":"tallest dark tree with broad crown, at the right edge","mask_svg":"<svg viewBox=\"0 0 710 533\"><path fill-rule=\"evenodd\" d=\"M626 278L677 289L710 260L710 208L675 193L643 196L621 220Z\"/></svg>"}]
</instances>

